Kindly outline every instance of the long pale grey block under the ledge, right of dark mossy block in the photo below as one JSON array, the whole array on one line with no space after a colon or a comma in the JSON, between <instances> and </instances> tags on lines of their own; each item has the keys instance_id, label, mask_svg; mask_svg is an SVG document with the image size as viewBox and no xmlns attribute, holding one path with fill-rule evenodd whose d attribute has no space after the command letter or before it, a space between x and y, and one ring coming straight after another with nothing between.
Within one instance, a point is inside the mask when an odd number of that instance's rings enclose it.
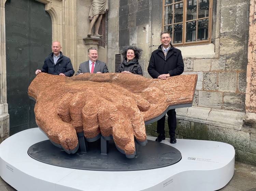
<instances>
[{"instance_id":1,"label":"long pale grey block under the ledge, right of dark mossy block","mask_svg":"<svg viewBox=\"0 0 256 191\"><path fill-rule=\"evenodd\" d=\"M249 151L249 133L216 126L208 126L208 130L209 140L228 143L236 149Z\"/></svg>"}]
</instances>

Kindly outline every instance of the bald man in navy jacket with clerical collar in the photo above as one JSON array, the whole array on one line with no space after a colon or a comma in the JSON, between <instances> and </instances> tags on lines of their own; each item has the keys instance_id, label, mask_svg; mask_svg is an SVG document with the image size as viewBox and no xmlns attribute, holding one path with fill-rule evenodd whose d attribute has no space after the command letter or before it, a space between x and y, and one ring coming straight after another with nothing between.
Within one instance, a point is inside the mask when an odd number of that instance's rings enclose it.
<instances>
[{"instance_id":1,"label":"bald man in navy jacket with clerical collar","mask_svg":"<svg viewBox=\"0 0 256 191\"><path fill-rule=\"evenodd\" d=\"M70 58L63 56L62 52L60 52L60 42L53 42L52 50L53 52L44 60L42 70L36 70L35 74L45 72L53 75L61 75L68 77L73 76L75 71L73 69L71 60Z\"/></svg>"}]
</instances>

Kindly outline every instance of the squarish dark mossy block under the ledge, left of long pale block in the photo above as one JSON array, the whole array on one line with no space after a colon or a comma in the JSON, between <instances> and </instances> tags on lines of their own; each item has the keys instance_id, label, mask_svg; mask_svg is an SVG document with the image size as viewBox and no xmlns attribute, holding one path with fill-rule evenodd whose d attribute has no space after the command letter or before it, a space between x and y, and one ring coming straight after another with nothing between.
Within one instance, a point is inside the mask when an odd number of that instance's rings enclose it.
<instances>
[{"instance_id":1,"label":"squarish dark mossy block under the ledge, left of long pale block","mask_svg":"<svg viewBox=\"0 0 256 191\"><path fill-rule=\"evenodd\" d=\"M191 122L190 137L197 140L208 140L208 125Z\"/></svg>"}]
</instances>

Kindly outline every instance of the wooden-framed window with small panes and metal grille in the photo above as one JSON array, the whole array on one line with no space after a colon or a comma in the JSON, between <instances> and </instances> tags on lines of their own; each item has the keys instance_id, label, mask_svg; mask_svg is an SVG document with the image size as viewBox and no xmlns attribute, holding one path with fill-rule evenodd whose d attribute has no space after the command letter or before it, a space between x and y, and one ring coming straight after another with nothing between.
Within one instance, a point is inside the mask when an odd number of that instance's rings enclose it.
<instances>
[{"instance_id":1,"label":"wooden-framed window with small panes and metal grille","mask_svg":"<svg viewBox=\"0 0 256 191\"><path fill-rule=\"evenodd\" d=\"M213 0L163 0L162 29L170 32L172 44L211 43Z\"/></svg>"}]
</instances>

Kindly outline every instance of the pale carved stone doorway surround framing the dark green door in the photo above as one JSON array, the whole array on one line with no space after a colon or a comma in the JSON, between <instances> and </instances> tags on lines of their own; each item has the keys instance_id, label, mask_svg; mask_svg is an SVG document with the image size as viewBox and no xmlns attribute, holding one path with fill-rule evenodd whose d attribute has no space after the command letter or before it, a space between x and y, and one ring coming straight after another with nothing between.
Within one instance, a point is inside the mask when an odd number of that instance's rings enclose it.
<instances>
[{"instance_id":1,"label":"pale carved stone doorway surround framing the dark green door","mask_svg":"<svg viewBox=\"0 0 256 191\"><path fill-rule=\"evenodd\" d=\"M12 0L0 0L0 143L9 136L10 133L10 115L8 113L8 100L6 88L6 33L5 33L5 4L6 1L12 5ZM15 0L16 1L16 0ZM19 0L24 1L24 0ZM104 33L104 43L95 39L88 39L88 29L90 21L88 13L92 0L26 0L35 1L44 5L45 11L50 15L52 22L52 41L59 41L62 45L62 53L68 56L73 64L75 71L79 64L88 60L87 49L95 46L99 49L99 59L106 62L107 55L107 31ZM25 2L25 1L24 1ZM16 1L17 3L17 1ZM36 6L36 5L35 5ZM33 8L32 8L33 9ZM38 8L35 7L36 10ZM102 22L108 25L107 15L104 15ZM107 28L107 27L106 27ZM20 31L17 31L19 33ZM21 33L21 32L20 32ZM9 35L10 36L10 35ZM20 34L20 36L26 36ZM42 36L37 36L42 38ZM47 39L48 40L48 39ZM50 40L50 41L51 41ZM102 41L102 40L101 40ZM20 47L15 47L19 49ZM51 48L49 48L51 50ZM38 53L40 54L40 53ZM46 55L47 56L47 55ZM43 60L40 60L43 62ZM22 65L22 62L19 64ZM32 71L33 72L33 71ZM34 72L33 72L34 73ZM23 117L23 116L22 116ZM12 119L11 119L12 120ZM24 127L28 129L30 127ZM23 129L15 130L15 132Z\"/></svg>"}]
</instances>

